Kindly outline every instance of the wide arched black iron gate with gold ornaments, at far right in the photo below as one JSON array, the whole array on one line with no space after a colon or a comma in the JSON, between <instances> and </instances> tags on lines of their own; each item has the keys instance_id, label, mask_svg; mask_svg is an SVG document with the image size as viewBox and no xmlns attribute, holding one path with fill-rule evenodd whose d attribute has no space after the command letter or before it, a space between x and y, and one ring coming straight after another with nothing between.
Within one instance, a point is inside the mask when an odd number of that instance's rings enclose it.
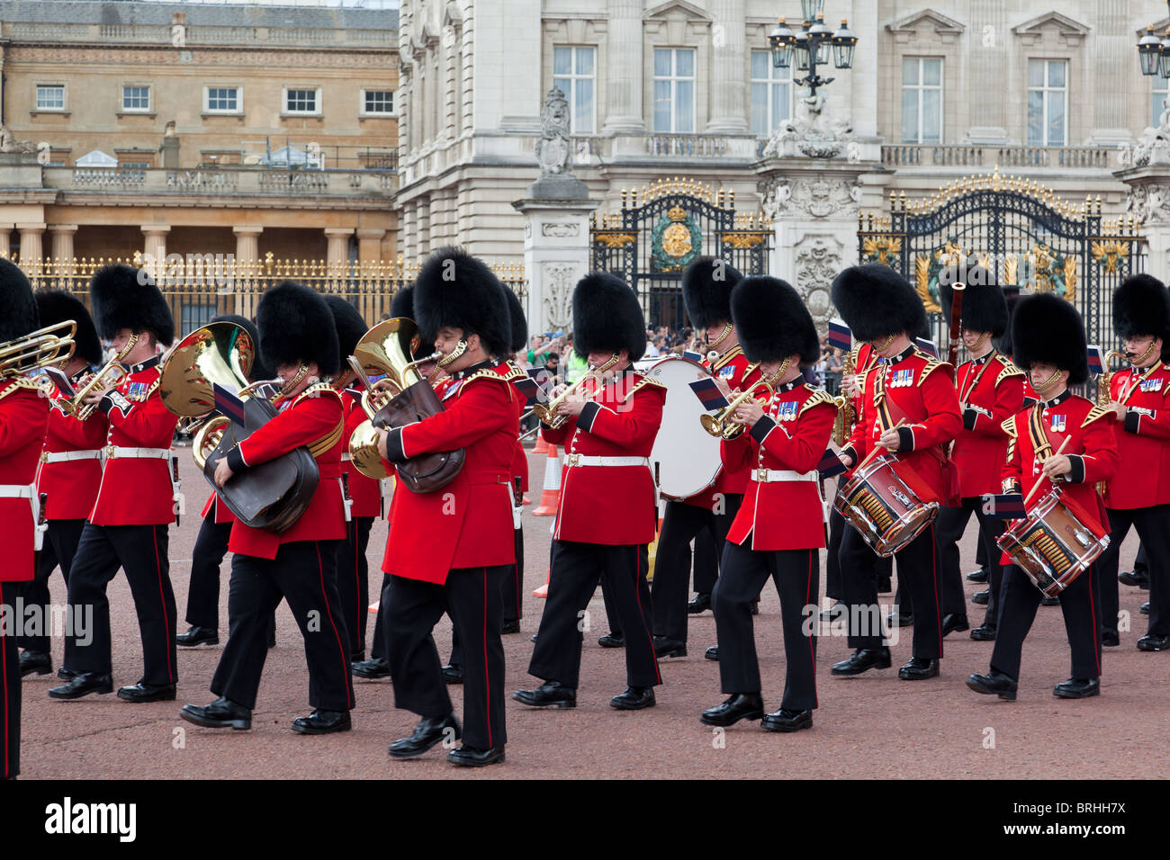
<instances>
[{"instance_id":1,"label":"wide arched black iron gate with gold ornaments, at far right","mask_svg":"<svg viewBox=\"0 0 1170 860\"><path fill-rule=\"evenodd\" d=\"M861 262L890 266L915 285L936 343L943 343L947 325L938 276L944 267L962 274L977 261L1000 284L1073 302L1089 343L1109 348L1113 290L1144 270L1145 240L1133 218L1102 218L1100 195L1071 204L1034 180L1000 176L997 167L956 180L929 199L892 194L887 214L859 216L858 255Z\"/></svg>"}]
</instances>

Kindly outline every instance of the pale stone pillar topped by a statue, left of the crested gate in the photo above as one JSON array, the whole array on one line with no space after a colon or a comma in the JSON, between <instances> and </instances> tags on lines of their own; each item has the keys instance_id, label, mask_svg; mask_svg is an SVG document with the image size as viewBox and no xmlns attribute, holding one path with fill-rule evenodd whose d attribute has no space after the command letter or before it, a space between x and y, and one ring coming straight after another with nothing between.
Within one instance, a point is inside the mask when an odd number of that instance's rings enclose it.
<instances>
[{"instance_id":1,"label":"pale stone pillar topped by a statue, left of the crested gate","mask_svg":"<svg viewBox=\"0 0 1170 860\"><path fill-rule=\"evenodd\" d=\"M530 332L572 329L573 287L590 270L589 216L599 205L589 199L512 202L524 215L524 312Z\"/></svg>"}]
</instances>

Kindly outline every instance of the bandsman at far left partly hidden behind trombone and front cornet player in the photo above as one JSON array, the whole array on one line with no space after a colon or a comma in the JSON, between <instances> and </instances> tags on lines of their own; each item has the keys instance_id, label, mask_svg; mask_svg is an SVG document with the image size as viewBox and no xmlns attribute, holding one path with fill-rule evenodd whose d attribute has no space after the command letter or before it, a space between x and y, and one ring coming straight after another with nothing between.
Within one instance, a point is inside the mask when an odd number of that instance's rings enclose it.
<instances>
[{"instance_id":1,"label":"bandsman at far left partly hidden behind trombone and front cornet player","mask_svg":"<svg viewBox=\"0 0 1170 860\"><path fill-rule=\"evenodd\" d=\"M102 364L102 343L94 328L94 319L85 304L63 290L36 293L41 325L55 325L67 319L77 324L74 335L74 355L62 369L74 388L80 388L91 369ZM36 490L48 501L43 517L48 524L41 550L36 553L36 578L22 586L26 606L42 607L41 618L49 615L49 576L61 567L61 576L69 584L77 543L81 541L85 517L94 510L97 488L102 483L102 446L105 445L105 415L95 412L78 421L62 408L64 392L53 385L49 403L49 426L44 433L44 449L36 469ZM26 633L16 638L25 649L20 655L20 674L47 675L53 672L49 654L49 631L36 635Z\"/></svg>"}]
</instances>

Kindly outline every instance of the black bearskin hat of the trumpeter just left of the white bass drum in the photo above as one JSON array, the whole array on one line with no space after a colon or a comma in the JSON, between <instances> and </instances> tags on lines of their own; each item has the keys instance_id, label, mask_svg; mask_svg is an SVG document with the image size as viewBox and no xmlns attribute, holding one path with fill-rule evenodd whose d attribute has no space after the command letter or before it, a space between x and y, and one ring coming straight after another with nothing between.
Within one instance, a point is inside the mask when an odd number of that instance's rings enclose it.
<instances>
[{"instance_id":1,"label":"black bearskin hat of the trumpeter just left of the white bass drum","mask_svg":"<svg viewBox=\"0 0 1170 860\"><path fill-rule=\"evenodd\" d=\"M629 351L636 362L646 352L646 317L629 285L607 271L594 271L573 289L573 349L577 355Z\"/></svg>"}]
</instances>

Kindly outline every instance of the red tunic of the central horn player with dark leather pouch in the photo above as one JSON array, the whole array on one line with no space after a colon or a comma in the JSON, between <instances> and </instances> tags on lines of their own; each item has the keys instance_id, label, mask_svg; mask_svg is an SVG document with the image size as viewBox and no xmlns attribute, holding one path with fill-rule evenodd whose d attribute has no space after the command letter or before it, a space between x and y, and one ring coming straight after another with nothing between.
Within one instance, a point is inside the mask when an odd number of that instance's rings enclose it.
<instances>
[{"instance_id":1,"label":"red tunic of the central horn player with dark leather pouch","mask_svg":"<svg viewBox=\"0 0 1170 860\"><path fill-rule=\"evenodd\" d=\"M516 392L487 364L468 370L441 386L443 412L387 436L391 462L466 449L463 468L446 487L412 493L399 482L381 564L392 576L441 585L454 569L516 562L510 489Z\"/></svg>"}]
</instances>

